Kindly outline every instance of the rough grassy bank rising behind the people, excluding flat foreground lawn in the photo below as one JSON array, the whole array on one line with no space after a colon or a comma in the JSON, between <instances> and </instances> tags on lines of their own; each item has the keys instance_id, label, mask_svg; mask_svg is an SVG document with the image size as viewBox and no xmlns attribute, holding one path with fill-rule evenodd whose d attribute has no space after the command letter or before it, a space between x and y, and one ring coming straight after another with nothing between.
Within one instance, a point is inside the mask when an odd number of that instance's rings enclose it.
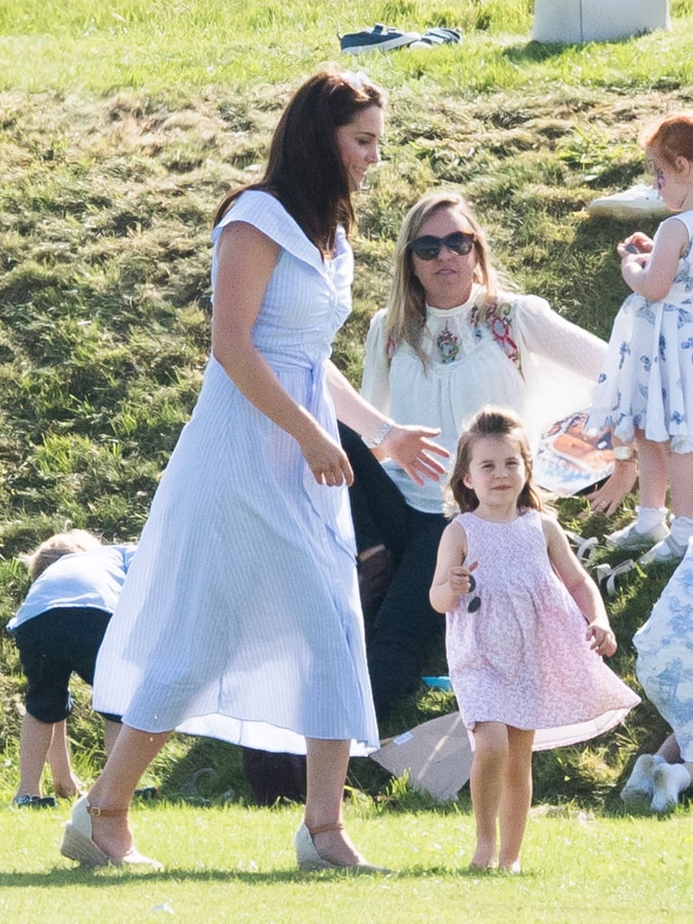
<instances>
[{"instance_id":1,"label":"rough grassy bank rising behind the people, excluding flat foreground lawn","mask_svg":"<svg viewBox=\"0 0 693 924\"><path fill-rule=\"evenodd\" d=\"M608 334L626 293L614 243L631 227L589 220L584 206L641 178L643 120L690 104L693 18L689 5L674 7L687 16L671 34L561 48L528 43L529 4L511 0L329 11L202 0L121 0L96 12L86 0L7 3L0 620L26 590L14 556L50 532L72 524L109 541L137 537L200 383L214 204L230 184L255 176L290 89L322 62L340 60L337 30L373 21L467 27L456 47L341 58L368 67L392 101L384 163L359 202L355 311L335 345L358 382L401 216L436 184L473 201L518 286ZM563 505L565 521L574 526L580 510L579 502ZM594 517L580 529L607 525ZM610 604L622 643L614 666L630 680L629 638L665 577L636 578ZM12 740L21 681L6 640L0 658L0 740ZM431 667L444 672L440 657ZM95 755L83 691L80 700L75 734ZM399 729L451 706L439 695L418 698ZM538 796L608 795L623 761L662 730L645 706L603 745L539 756ZM14 746L11 754L14 762ZM224 763L225 755L205 760ZM382 785L368 769L355 774Z\"/></svg>"}]
</instances>

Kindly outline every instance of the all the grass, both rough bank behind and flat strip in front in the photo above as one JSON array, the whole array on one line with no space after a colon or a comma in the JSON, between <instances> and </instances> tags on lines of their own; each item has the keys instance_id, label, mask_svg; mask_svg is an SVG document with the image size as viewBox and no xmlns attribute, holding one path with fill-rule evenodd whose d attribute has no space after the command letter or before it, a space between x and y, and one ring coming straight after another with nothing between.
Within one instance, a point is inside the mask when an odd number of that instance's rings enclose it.
<instances>
[{"instance_id":1,"label":"all the grass, both rough bank behind and flat strip in front","mask_svg":"<svg viewBox=\"0 0 693 924\"><path fill-rule=\"evenodd\" d=\"M672 11L670 33L564 47L529 41L525 0L312 6L6 0L0 7L0 626L27 589L18 553L51 532L73 525L107 541L137 539L207 356L213 209L226 188L257 176L278 114L301 79L335 62L363 67L390 92L383 164L358 202L355 310L335 344L336 361L358 383L365 332L383 305L402 215L421 192L439 185L473 202L518 287L608 334L626 295L614 245L634 227L591 219L586 205L643 178L637 137L644 121L693 105L693 3L674 2ZM338 32L377 21L418 30L460 26L463 42L432 51L340 54ZM652 232L655 225L640 228ZM573 529L602 535L626 522L634 504L630 498L613 522L578 519L585 512L579 499L563 503L561 515ZM631 683L630 638L667 577L665 570L638 575L608 602L620 641L614 667ZM433 653L427 673L445 673L441 652ZM0 799L6 802L17 779L22 683L14 645L2 638ZM78 685L76 692L70 734L86 781L103 754L88 691ZM421 693L383 733L453 706L449 696ZM8 871L0 875L0 915L82 920L90 917L87 907L98 914L114 907L114 895L127 894L123 917L112 919L146 919L166 903L190 919L189 908L204 894L213 909L209 920L227 919L230 904L246 914L240 900L249 895L254 911L247 917L261 913L268 921L317 920L328 902L333 916L334 907L344 906L345 920L363 921L376 911L378 918L411 921L465 920L467 913L496 920L517 917L517 906L526 909L520 921L580 921L600 914L600 903L609 920L676 920L691 898L683 875L687 870L689 880L689 809L663 823L630 820L617 797L635 753L655 747L664 731L643 704L604 741L537 755L537 801L567 803L576 814L541 817L531 826L529 871L517 882L462 871L471 843L464 808L439 814L405 786L393 799L382 772L355 762L355 788L374 806L401 813L378 816L372 825L373 831L391 825L386 837L371 833L366 818L364 844L374 859L407 874L377 882L334 877L329 894L310 892L323 894L325 905L306 898L308 887L291 869L297 812L258 811L256 818L246 809L220 808L230 790L241 803L249 799L237 750L175 738L147 781L174 801L140 810L142 821L152 812L151 839L138 826L142 848L161 846L176 872L156 887L100 874L106 894L66 864L56 867L55 813L2 810L0 869ZM215 808L171 808L191 774L206 766L215 768L218 785L200 802ZM577 807L598 811L599 821L577 821ZM228 854L226 812L243 832ZM189 826L192 839L208 823L217 833L205 830L201 841L217 853L201 859L203 869L190 860L178 876L178 845L186 843L179 830ZM432 848L420 868L412 867L429 829L440 853ZM256 850L264 832L269 840ZM263 872L248 868L253 856ZM258 893L259 884L274 881L282 884L276 895ZM43 910L22 911L21 902L33 896ZM51 918L58 899L64 904ZM265 901L269 910L260 911ZM648 913L628 917L631 906ZM354 913L355 907L369 910Z\"/></svg>"}]
</instances>

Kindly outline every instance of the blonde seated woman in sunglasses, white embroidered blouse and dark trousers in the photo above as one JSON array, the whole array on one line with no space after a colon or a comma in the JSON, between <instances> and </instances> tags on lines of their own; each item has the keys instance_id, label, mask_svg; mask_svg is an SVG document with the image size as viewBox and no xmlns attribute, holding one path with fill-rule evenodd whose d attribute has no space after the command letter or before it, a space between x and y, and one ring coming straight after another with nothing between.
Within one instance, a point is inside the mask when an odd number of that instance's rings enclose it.
<instances>
[{"instance_id":1,"label":"blonde seated woman in sunglasses, white embroidered blouse and dark trousers","mask_svg":"<svg viewBox=\"0 0 693 924\"><path fill-rule=\"evenodd\" d=\"M438 441L454 455L461 422L486 404L514 408L537 437L588 407L605 351L543 298L502 287L467 201L434 191L404 219L387 308L371 322L361 394L402 423L440 429ZM426 647L442 641L428 589L446 523L443 495L439 483L413 481L383 459L382 446L371 442L369 451L344 427L341 437L356 476L359 584L382 721L416 686ZM618 501L634 468L618 464Z\"/></svg>"}]
</instances>

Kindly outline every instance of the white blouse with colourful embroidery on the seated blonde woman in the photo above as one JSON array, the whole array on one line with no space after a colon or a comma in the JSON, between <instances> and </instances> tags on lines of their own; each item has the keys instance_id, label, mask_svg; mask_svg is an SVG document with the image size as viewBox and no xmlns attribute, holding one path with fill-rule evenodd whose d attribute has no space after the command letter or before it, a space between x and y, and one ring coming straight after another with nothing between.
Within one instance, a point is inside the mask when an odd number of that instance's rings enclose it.
<instances>
[{"instance_id":1,"label":"white blouse with colourful embroidery on the seated blonde woman","mask_svg":"<svg viewBox=\"0 0 693 924\"><path fill-rule=\"evenodd\" d=\"M425 365L408 344L386 342L384 309L366 341L361 394L398 423L440 428L449 467L463 424L486 404L514 408L533 444L555 420L589 407L606 352L599 337L537 296L501 293L480 320L484 294L476 286L464 305L427 308ZM409 505L442 511L445 476L419 486L392 459L383 465Z\"/></svg>"}]
</instances>

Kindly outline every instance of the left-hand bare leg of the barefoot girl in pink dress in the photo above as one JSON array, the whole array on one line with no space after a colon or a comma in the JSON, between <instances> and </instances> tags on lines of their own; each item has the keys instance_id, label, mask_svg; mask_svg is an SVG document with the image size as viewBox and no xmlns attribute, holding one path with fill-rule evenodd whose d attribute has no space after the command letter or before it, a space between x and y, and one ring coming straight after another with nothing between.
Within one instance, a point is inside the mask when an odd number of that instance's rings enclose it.
<instances>
[{"instance_id":1,"label":"left-hand bare leg of the barefoot girl in pink dress","mask_svg":"<svg viewBox=\"0 0 693 924\"><path fill-rule=\"evenodd\" d=\"M477 846L470 866L489 869L496 859L496 821L508 760L508 730L501 722L474 726L474 759L469 775Z\"/></svg>"}]
</instances>

